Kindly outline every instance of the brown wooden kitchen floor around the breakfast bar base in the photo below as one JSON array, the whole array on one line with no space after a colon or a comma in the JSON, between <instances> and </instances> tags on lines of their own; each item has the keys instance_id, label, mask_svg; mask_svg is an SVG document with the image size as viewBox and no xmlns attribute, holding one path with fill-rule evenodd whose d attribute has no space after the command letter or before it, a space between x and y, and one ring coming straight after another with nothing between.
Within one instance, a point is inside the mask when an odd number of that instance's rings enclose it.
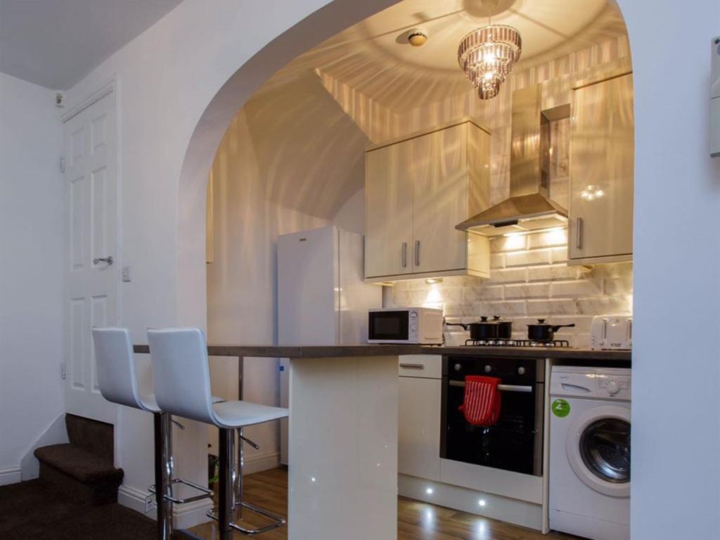
<instances>
[{"instance_id":1,"label":"brown wooden kitchen floor around the breakfast bar base","mask_svg":"<svg viewBox=\"0 0 720 540\"><path fill-rule=\"evenodd\" d=\"M282 469L251 474L245 478L246 500L287 516L287 472ZM249 520L248 520L249 521ZM253 525L267 523L262 519L249 521ZM192 528L203 539L217 538L212 524ZM236 533L235 537L246 538ZM278 528L259 536L263 540L287 540L287 528ZM342 539L338 531L338 539ZM397 540L577 540L566 534L540 534L527 528L509 525L480 516L450 510L441 506L400 498L397 507Z\"/></svg>"}]
</instances>

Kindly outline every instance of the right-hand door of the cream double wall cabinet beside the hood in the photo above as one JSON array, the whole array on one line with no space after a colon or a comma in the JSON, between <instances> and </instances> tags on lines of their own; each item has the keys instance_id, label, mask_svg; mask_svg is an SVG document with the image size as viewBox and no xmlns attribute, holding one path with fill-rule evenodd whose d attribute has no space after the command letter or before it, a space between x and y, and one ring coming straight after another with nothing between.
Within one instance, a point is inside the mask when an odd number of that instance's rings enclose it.
<instances>
[{"instance_id":1,"label":"right-hand door of the cream double wall cabinet beside the hood","mask_svg":"<svg viewBox=\"0 0 720 540\"><path fill-rule=\"evenodd\" d=\"M413 139L413 272L467 267L467 124Z\"/></svg>"}]
</instances>

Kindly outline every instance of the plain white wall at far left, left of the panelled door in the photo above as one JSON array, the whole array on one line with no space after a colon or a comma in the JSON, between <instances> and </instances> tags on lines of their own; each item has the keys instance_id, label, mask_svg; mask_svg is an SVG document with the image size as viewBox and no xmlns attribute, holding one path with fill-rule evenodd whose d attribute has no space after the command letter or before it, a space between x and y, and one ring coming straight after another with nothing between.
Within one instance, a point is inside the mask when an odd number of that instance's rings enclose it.
<instances>
[{"instance_id":1,"label":"plain white wall at far left, left of the panelled door","mask_svg":"<svg viewBox=\"0 0 720 540\"><path fill-rule=\"evenodd\" d=\"M53 91L0 73L0 484L19 481L22 456L64 410L58 116Z\"/></svg>"}]
</instances>

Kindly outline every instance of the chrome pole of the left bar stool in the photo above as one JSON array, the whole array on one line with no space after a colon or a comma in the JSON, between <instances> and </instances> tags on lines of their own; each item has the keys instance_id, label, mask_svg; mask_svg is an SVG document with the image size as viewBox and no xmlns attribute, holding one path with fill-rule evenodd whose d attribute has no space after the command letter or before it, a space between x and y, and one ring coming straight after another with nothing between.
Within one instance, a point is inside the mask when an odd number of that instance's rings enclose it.
<instances>
[{"instance_id":1,"label":"chrome pole of the left bar stool","mask_svg":"<svg viewBox=\"0 0 720 540\"><path fill-rule=\"evenodd\" d=\"M153 414L155 420L155 500L158 540L170 540L173 503L167 499L172 478L172 426L168 413Z\"/></svg>"}]
</instances>

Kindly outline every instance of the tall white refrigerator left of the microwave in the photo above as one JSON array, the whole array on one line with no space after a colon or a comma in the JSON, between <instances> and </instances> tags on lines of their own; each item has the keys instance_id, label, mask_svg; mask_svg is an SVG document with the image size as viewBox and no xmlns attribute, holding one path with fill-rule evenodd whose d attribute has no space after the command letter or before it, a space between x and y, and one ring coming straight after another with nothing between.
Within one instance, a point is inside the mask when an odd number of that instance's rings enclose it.
<instances>
[{"instance_id":1,"label":"tall white refrigerator left of the microwave","mask_svg":"<svg viewBox=\"0 0 720 540\"><path fill-rule=\"evenodd\" d=\"M277 269L279 345L367 342L367 312L382 307L382 287L364 282L362 235L336 227L282 235ZM281 359L282 407L288 406L288 382L289 362ZM281 421L280 462L288 463L287 420Z\"/></svg>"}]
</instances>

